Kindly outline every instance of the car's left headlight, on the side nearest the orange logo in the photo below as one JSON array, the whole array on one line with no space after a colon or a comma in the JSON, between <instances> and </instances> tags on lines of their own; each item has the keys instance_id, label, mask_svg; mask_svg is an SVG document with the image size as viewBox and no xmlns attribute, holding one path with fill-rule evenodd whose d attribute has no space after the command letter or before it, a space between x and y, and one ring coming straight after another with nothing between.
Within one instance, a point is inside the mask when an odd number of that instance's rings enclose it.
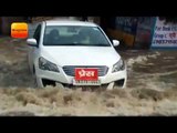
<instances>
[{"instance_id":1,"label":"car's left headlight, on the side nearest the orange logo","mask_svg":"<svg viewBox=\"0 0 177 133\"><path fill-rule=\"evenodd\" d=\"M54 71L54 72L60 72L56 64L45 60L44 58L39 59L39 68L41 70L48 70L48 71Z\"/></svg>"}]
</instances>

